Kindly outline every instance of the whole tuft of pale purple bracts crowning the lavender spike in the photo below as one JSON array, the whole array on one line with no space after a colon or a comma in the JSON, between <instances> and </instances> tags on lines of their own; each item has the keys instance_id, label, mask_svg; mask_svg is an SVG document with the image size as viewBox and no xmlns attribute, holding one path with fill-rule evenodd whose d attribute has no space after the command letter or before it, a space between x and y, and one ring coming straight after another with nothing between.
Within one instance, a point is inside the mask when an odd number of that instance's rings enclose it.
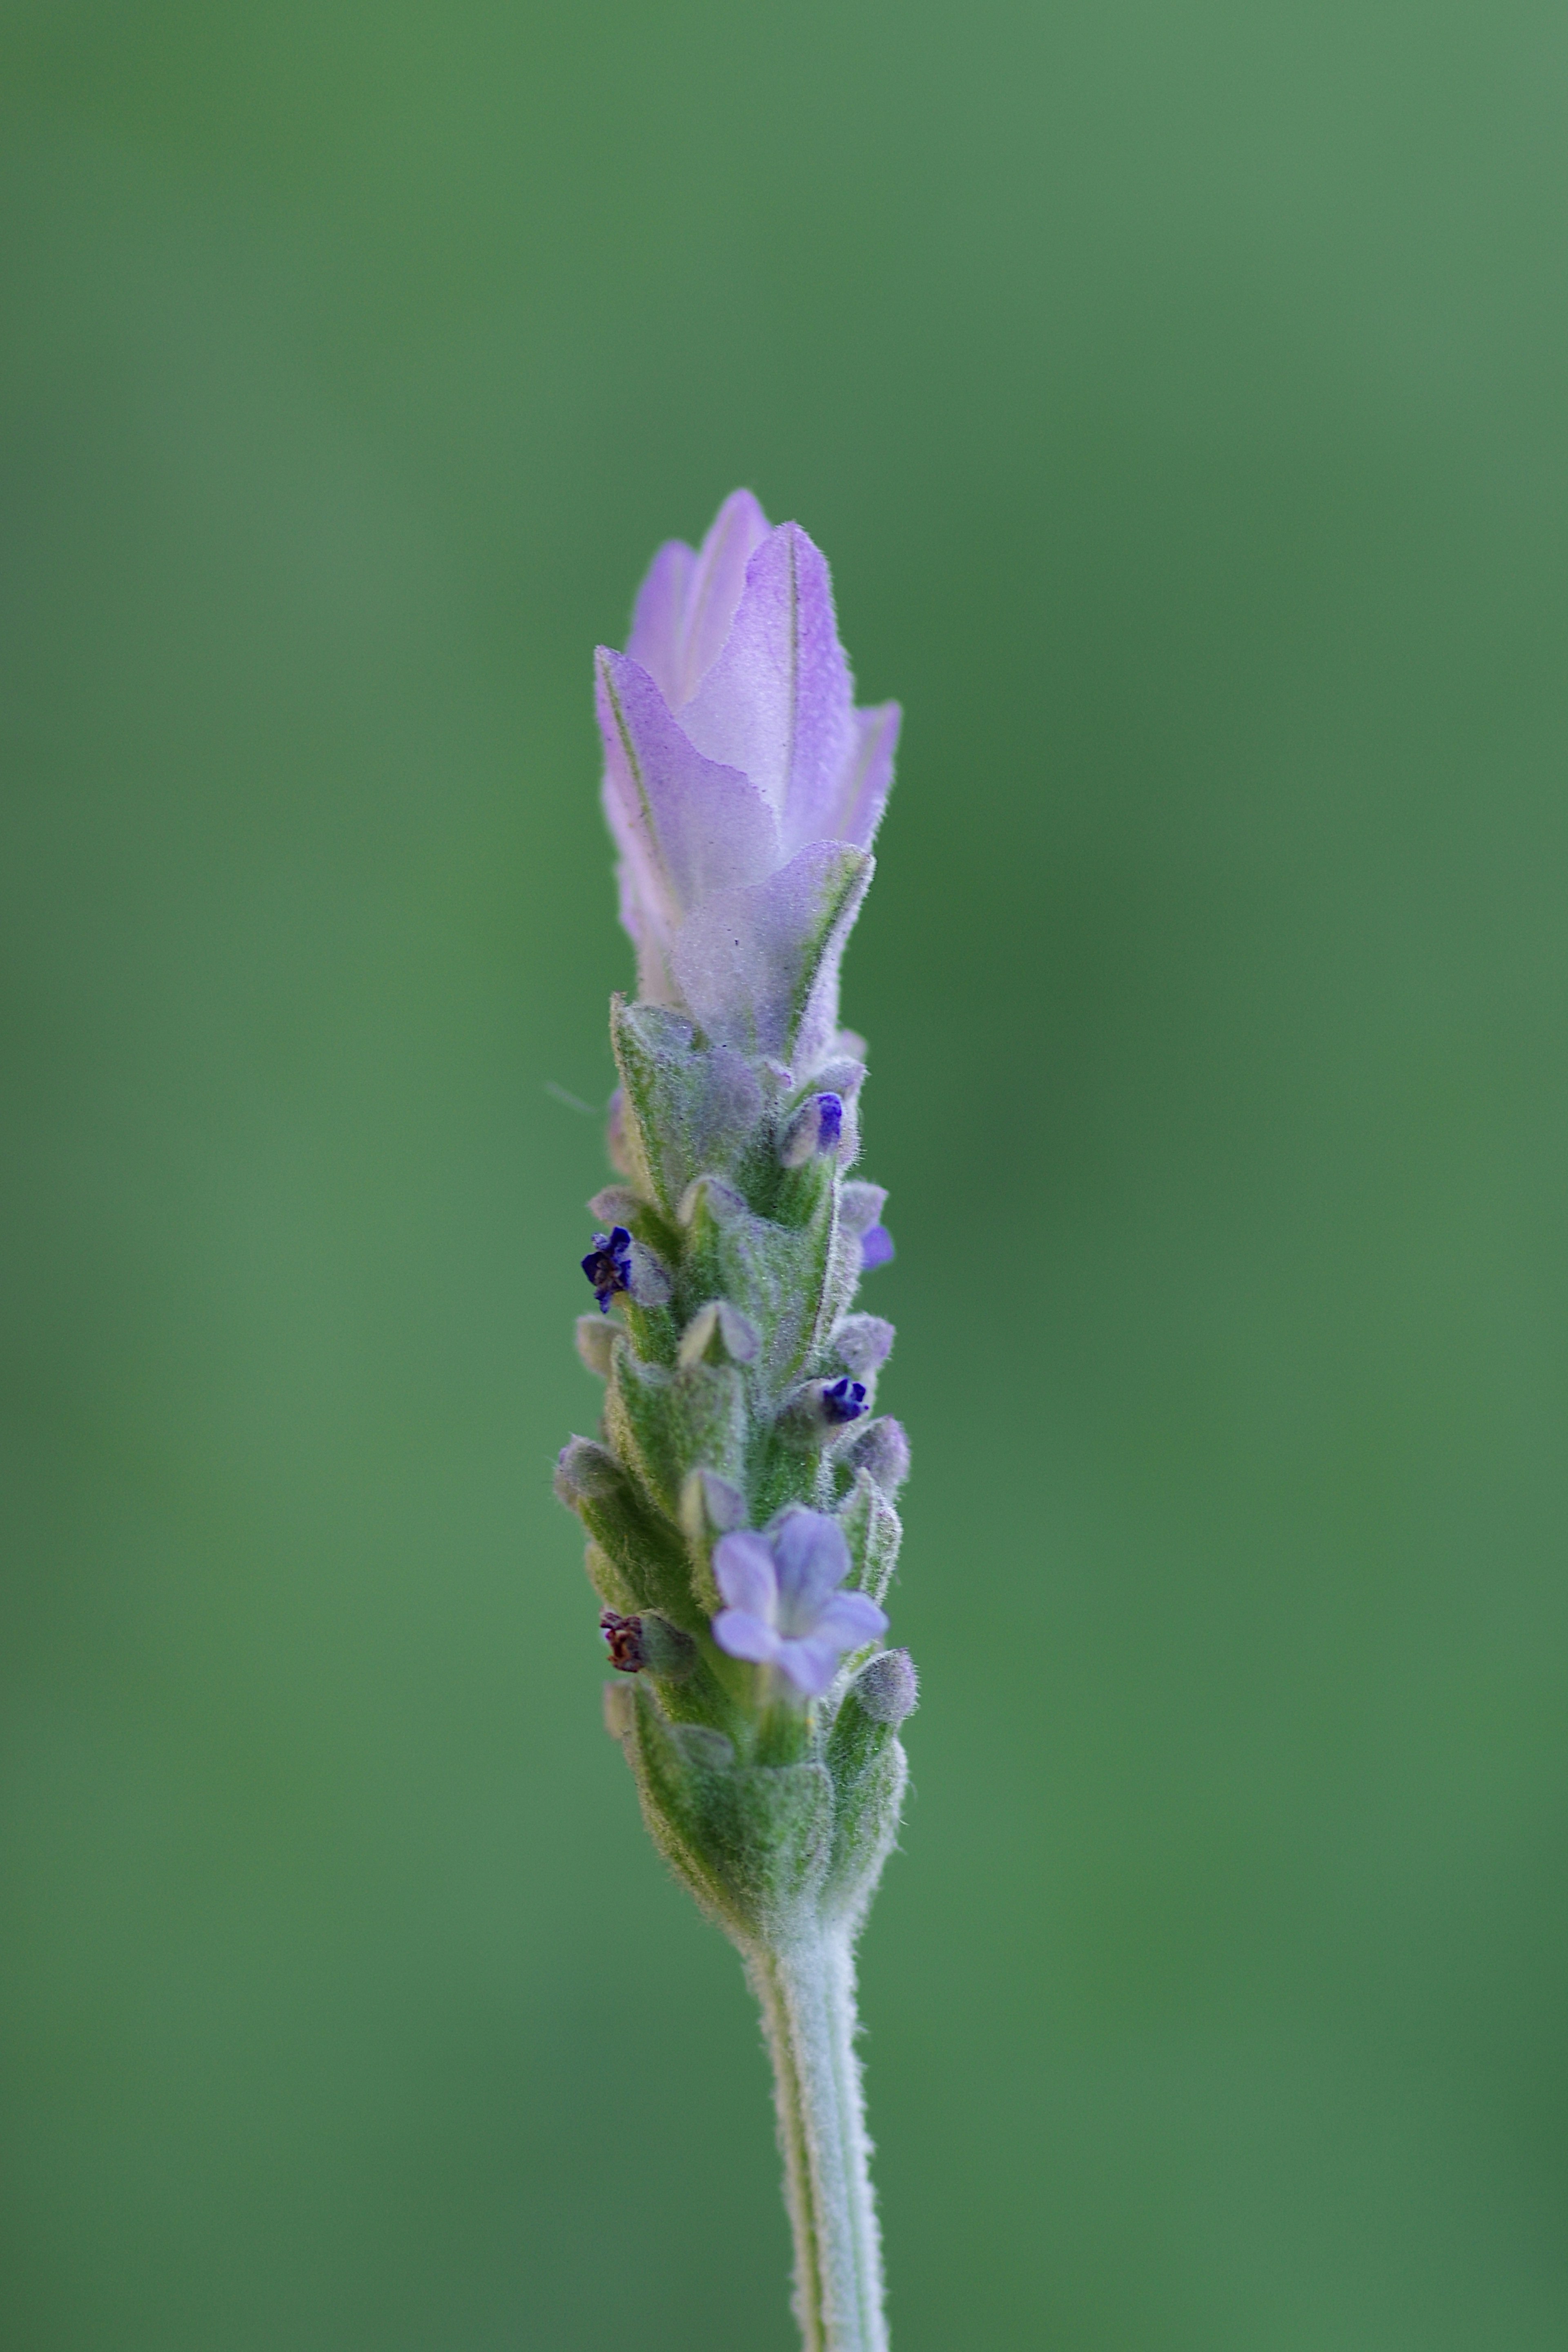
<instances>
[{"instance_id":1,"label":"whole tuft of pale purple bracts crowning the lavender spike","mask_svg":"<svg viewBox=\"0 0 1568 2352\"><path fill-rule=\"evenodd\" d=\"M856 710L818 548L738 489L658 550L597 701L642 997L816 1068L898 741L896 703Z\"/></svg>"}]
</instances>

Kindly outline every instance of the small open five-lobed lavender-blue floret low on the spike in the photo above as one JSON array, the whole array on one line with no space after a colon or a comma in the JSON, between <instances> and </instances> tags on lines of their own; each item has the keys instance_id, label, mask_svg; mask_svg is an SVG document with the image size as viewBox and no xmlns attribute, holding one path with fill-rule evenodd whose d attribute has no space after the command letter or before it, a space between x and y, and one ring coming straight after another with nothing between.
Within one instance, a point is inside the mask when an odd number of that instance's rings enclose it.
<instances>
[{"instance_id":1,"label":"small open five-lobed lavender-blue floret low on the spike","mask_svg":"<svg viewBox=\"0 0 1568 2352\"><path fill-rule=\"evenodd\" d=\"M802 1698L820 1698L839 1658L886 1632L875 1599L839 1590L849 1545L823 1510L792 1505L762 1534L724 1536L712 1548L712 1573L729 1604L712 1621L719 1649L778 1668Z\"/></svg>"}]
</instances>

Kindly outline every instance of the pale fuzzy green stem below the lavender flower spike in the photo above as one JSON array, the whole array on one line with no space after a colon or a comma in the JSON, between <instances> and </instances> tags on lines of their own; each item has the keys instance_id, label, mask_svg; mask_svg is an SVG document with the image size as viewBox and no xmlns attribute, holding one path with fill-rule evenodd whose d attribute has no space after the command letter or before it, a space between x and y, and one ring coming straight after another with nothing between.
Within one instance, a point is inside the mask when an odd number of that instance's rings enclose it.
<instances>
[{"instance_id":1,"label":"pale fuzzy green stem below the lavender flower spike","mask_svg":"<svg viewBox=\"0 0 1568 2352\"><path fill-rule=\"evenodd\" d=\"M813 1922L755 1945L748 1973L773 2058L804 2352L886 2352L851 1936Z\"/></svg>"}]
</instances>

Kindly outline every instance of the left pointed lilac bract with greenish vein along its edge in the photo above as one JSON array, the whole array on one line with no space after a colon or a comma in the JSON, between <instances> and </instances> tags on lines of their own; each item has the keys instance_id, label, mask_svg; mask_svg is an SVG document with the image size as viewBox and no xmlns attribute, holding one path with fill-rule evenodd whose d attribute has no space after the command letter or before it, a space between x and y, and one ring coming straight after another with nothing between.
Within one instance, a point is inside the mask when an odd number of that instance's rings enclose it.
<instances>
[{"instance_id":1,"label":"left pointed lilac bract with greenish vein along its edge","mask_svg":"<svg viewBox=\"0 0 1568 2352\"><path fill-rule=\"evenodd\" d=\"M604 802L637 896L679 922L769 875L778 830L757 788L693 750L642 663L599 647L597 666Z\"/></svg>"}]
</instances>

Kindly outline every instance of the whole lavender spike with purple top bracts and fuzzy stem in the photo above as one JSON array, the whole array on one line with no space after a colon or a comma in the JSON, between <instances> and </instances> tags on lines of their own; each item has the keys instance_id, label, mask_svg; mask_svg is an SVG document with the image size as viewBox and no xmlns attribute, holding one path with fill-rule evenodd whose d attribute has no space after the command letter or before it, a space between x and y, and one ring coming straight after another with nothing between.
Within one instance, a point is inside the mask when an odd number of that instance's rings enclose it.
<instances>
[{"instance_id":1,"label":"whole lavender spike with purple top bracts and fuzzy stem","mask_svg":"<svg viewBox=\"0 0 1568 2352\"><path fill-rule=\"evenodd\" d=\"M637 1002L611 1004L623 1183L588 1207L599 1437L559 1456L604 1604L607 1722L656 1846L741 1947L773 2058L809 2352L882 2352L853 1945L914 1705L884 1649L910 1449L875 1416L893 1244L858 1152L839 962L898 706L856 710L827 564L750 496L658 550L599 649L604 811Z\"/></svg>"}]
</instances>

